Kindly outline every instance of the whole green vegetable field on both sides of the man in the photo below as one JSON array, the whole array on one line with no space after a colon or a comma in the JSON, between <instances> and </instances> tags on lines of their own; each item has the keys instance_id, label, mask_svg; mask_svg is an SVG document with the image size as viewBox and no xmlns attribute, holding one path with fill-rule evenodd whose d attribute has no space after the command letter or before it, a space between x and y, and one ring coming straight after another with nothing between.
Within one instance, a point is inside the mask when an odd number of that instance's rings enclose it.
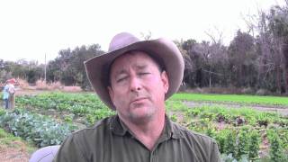
<instances>
[{"instance_id":1,"label":"whole green vegetable field on both sides of the man","mask_svg":"<svg viewBox=\"0 0 288 162\"><path fill-rule=\"evenodd\" d=\"M253 106L286 111L288 99L174 94L166 101L166 114L182 126L216 139L224 161L285 161L288 154L288 115L259 111ZM29 94L17 96L13 111L1 109L0 127L41 148L60 144L69 133L90 127L95 121L114 113L94 94Z\"/></svg>"}]
</instances>

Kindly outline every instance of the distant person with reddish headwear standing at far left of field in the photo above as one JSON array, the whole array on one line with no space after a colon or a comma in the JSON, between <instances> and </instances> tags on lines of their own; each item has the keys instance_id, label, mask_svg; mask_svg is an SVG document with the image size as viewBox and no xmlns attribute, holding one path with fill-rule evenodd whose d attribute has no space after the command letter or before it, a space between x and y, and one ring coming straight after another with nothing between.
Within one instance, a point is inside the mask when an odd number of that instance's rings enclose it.
<instances>
[{"instance_id":1,"label":"distant person with reddish headwear standing at far left of field","mask_svg":"<svg viewBox=\"0 0 288 162\"><path fill-rule=\"evenodd\" d=\"M6 81L3 89L4 108L14 108L15 105L15 86L16 80L14 78Z\"/></svg>"}]
</instances>

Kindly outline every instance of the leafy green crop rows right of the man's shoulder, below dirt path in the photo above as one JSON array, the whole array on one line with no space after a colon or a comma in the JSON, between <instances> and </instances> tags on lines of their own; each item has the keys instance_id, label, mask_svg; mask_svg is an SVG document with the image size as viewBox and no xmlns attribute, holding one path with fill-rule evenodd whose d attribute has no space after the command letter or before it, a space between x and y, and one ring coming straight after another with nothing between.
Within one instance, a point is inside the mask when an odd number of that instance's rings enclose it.
<instances>
[{"instance_id":1,"label":"leafy green crop rows right of the man's shoulder, below dirt path","mask_svg":"<svg viewBox=\"0 0 288 162\"><path fill-rule=\"evenodd\" d=\"M166 106L172 120L216 139L227 161L255 160L259 156L269 161L288 160L288 118L281 114L245 107L188 108L177 100L167 101Z\"/></svg>"}]
</instances>

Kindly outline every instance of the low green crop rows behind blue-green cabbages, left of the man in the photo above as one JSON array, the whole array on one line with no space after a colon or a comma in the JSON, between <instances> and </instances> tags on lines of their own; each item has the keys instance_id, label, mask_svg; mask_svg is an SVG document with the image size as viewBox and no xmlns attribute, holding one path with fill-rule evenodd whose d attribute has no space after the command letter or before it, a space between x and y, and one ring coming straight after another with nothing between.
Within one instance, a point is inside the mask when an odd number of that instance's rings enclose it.
<instances>
[{"instance_id":1,"label":"low green crop rows behind blue-green cabbages, left of the man","mask_svg":"<svg viewBox=\"0 0 288 162\"><path fill-rule=\"evenodd\" d=\"M76 121L77 118L84 118L83 122L86 126L91 126L95 121L114 114L94 94L24 95L16 99L16 105L33 112L56 110L58 116L64 121Z\"/></svg>"}]
</instances>

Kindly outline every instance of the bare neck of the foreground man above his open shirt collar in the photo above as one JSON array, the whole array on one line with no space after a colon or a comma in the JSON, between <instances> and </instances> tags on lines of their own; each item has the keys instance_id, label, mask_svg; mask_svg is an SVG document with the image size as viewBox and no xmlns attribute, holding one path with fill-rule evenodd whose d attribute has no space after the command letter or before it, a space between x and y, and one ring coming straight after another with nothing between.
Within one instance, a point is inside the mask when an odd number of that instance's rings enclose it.
<instances>
[{"instance_id":1,"label":"bare neck of the foreground man above his open shirt collar","mask_svg":"<svg viewBox=\"0 0 288 162\"><path fill-rule=\"evenodd\" d=\"M159 139L165 126L165 113L155 116L152 120L135 124L130 121L122 120L125 125L130 129L136 139L145 145L149 150L155 146L157 139Z\"/></svg>"}]
</instances>

